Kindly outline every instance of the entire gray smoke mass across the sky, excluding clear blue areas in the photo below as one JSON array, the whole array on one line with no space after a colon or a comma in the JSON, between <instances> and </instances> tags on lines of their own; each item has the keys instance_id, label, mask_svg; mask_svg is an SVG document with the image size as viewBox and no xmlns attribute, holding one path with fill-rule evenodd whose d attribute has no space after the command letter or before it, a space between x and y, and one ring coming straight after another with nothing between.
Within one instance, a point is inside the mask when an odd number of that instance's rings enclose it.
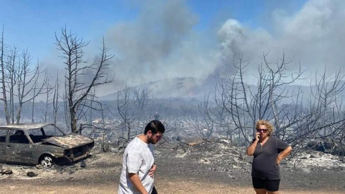
<instances>
[{"instance_id":1,"label":"entire gray smoke mass across the sky, excluding clear blue areas","mask_svg":"<svg viewBox=\"0 0 345 194\"><path fill-rule=\"evenodd\" d=\"M126 83L135 86L174 77L194 77L196 84L211 85L232 73L239 55L249 63L245 70L249 84L255 84L253 74L267 52L272 63L284 52L287 60L294 59L293 68L301 62L307 74L322 71L324 65L333 71L344 66L345 1L310 0L295 12L287 2L285 6L267 1L265 6L268 12L258 16L265 23L261 28L223 18L212 25L214 29L197 31L198 15L185 1L142 2L135 19L114 24L104 35L115 54L109 72L116 73L116 81L99 88L99 96Z\"/></svg>"}]
</instances>

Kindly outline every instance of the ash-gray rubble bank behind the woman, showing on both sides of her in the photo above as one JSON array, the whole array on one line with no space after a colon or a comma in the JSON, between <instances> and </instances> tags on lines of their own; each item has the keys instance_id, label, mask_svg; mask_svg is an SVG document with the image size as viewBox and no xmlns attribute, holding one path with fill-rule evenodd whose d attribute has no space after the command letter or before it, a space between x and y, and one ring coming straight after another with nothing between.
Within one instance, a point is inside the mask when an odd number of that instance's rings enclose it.
<instances>
[{"instance_id":1,"label":"ash-gray rubble bank behind the woman, showing on both sides of her","mask_svg":"<svg viewBox=\"0 0 345 194\"><path fill-rule=\"evenodd\" d=\"M170 156L161 156L163 149L170 149ZM216 171L229 171L233 168L250 170L253 156L247 156L245 150L246 147L234 146L227 140L211 142L202 138L187 138L184 142L159 146L155 154L157 157L186 158L195 165L205 164ZM345 169L342 157L308 149L299 150L295 155L287 157L280 166L303 171L311 168Z\"/></svg>"}]
</instances>

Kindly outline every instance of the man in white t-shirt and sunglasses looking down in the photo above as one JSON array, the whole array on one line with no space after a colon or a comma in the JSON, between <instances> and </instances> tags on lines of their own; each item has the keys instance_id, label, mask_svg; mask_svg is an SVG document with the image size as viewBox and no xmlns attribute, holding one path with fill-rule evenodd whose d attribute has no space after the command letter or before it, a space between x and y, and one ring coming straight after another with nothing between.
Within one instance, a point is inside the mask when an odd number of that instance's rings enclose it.
<instances>
[{"instance_id":1,"label":"man in white t-shirt and sunglasses looking down","mask_svg":"<svg viewBox=\"0 0 345 194\"><path fill-rule=\"evenodd\" d=\"M156 171L153 145L162 137L164 125L157 120L150 121L143 134L134 138L123 154L119 194L157 194L153 186Z\"/></svg>"}]
</instances>

